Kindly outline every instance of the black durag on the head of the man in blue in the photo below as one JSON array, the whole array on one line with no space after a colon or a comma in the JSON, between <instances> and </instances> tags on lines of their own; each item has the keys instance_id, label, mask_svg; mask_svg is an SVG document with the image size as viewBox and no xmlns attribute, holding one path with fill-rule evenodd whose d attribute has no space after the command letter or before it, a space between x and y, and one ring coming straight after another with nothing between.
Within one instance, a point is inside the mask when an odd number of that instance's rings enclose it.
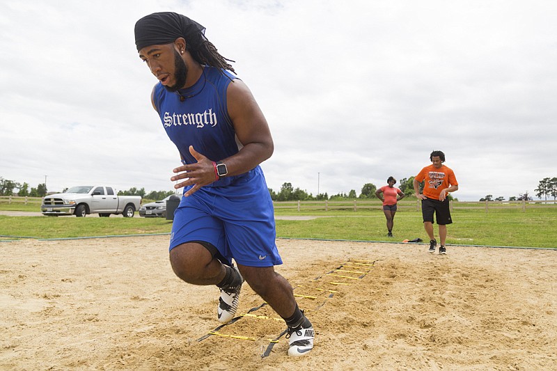
<instances>
[{"instance_id":1,"label":"black durag on the head of the man in blue","mask_svg":"<svg viewBox=\"0 0 557 371\"><path fill-rule=\"evenodd\" d=\"M173 12L152 13L135 24L137 51L149 45L164 45L185 38L186 45L197 49L205 40L205 27L185 15ZM189 49L189 47L188 47Z\"/></svg>"}]
</instances>

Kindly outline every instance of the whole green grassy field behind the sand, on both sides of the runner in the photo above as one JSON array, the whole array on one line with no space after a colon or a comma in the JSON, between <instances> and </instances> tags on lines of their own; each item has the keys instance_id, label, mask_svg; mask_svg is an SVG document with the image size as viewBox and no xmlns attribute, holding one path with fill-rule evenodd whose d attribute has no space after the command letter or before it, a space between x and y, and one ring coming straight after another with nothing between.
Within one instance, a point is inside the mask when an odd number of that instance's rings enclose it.
<instances>
[{"instance_id":1,"label":"whole green grassy field behind the sand, on both sides of the runner","mask_svg":"<svg viewBox=\"0 0 557 371\"><path fill-rule=\"evenodd\" d=\"M20 205L21 206L21 205ZM0 204L0 210L10 210ZM25 210L22 207L12 210ZM278 213L277 213L278 214ZM427 236L421 212L400 211L395 216L395 237L386 237L385 218L381 210L336 210L329 212L289 213L314 214L313 220L277 220L277 237L312 239L350 239L361 241L401 242ZM557 248L557 207L526 209L455 210L454 223L448 226L448 244L480 246L521 246ZM95 237L108 235L142 235L168 233L171 221L162 218L76 218L74 216L0 216L0 240L17 237L38 239ZM437 226L435 226L437 235Z\"/></svg>"}]
</instances>

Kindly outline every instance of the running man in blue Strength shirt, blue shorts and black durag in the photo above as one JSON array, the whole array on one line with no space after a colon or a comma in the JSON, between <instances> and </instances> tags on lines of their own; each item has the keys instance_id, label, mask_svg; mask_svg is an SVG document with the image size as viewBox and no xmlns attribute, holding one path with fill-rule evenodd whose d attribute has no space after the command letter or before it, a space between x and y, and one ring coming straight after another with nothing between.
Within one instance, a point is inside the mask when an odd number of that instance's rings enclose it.
<instances>
[{"instance_id":1,"label":"running man in blue Strength shirt, blue shorts and black durag","mask_svg":"<svg viewBox=\"0 0 557 371\"><path fill-rule=\"evenodd\" d=\"M135 41L159 80L152 106L183 164L171 177L175 188L184 187L169 247L173 271L187 283L219 287L223 323L233 319L245 279L285 320L288 354L307 354L313 325L290 283L274 271L282 260L259 166L274 150L265 116L201 24L177 13L153 13L136 22Z\"/></svg>"}]
</instances>

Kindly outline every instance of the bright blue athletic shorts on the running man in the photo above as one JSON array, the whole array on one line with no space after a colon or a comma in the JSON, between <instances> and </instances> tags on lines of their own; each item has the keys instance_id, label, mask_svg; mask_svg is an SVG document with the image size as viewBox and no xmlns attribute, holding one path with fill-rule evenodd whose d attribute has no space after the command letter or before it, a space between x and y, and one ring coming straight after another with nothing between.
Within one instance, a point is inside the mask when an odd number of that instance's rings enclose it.
<instances>
[{"instance_id":1,"label":"bright blue athletic shorts on the running man","mask_svg":"<svg viewBox=\"0 0 557 371\"><path fill-rule=\"evenodd\" d=\"M170 248L206 242L230 264L272 267L283 262L275 244L273 201L259 166L226 187L202 187L174 212Z\"/></svg>"}]
</instances>

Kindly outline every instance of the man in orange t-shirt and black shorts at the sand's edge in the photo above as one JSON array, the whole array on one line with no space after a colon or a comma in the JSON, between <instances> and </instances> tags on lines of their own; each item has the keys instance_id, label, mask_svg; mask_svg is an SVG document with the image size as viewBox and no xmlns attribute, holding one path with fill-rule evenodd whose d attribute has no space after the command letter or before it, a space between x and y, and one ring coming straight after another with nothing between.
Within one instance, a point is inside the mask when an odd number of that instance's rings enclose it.
<instances>
[{"instance_id":1,"label":"man in orange t-shirt and black shorts at the sand's edge","mask_svg":"<svg viewBox=\"0 0 557 371\"><path fill-rule=\"evenodd\" d=\"M447 238L447 224L453 223L450 219L448 205L449 192L457 191L458 182L455 173L445 166L445 154L441 151L433 151L430 154L432 164L425 166L416 177L414 177L414 193L418 200L422 200L423 228L430 237L430 253L435 252L437 240L433 234L433 214L439 224L439 253L446 254L445 240ZM420 194L420 183L425 180L423 194Z\"/></svg>"}]
</instances>

